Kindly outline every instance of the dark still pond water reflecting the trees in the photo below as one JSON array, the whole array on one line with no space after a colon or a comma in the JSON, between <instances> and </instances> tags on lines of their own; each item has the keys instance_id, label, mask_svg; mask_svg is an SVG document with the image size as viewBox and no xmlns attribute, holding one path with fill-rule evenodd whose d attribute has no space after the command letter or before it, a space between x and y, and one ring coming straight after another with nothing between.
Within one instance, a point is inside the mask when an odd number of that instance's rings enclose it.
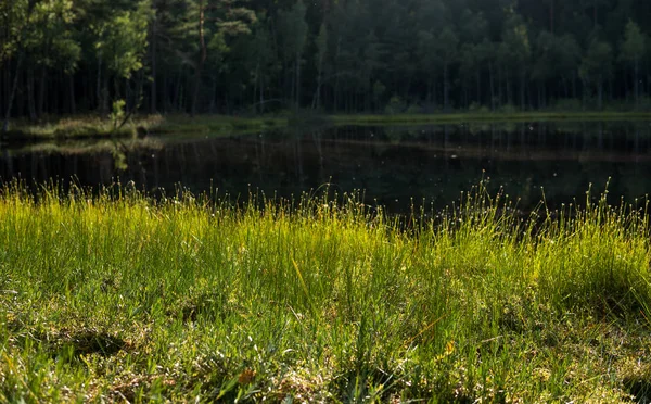
<instances>
[{"instance_id":1,"label":"dark still pond water reflecting the trees","mask_svg":"<svg viewBox=\"0 0 651 404\"><path fill-rule=\"evenodd\" d=\"M174 193L217 188L291 197L324 184L363 190L368 203L392 212L417 204L443 207L480 180L536 205L597 195L610 178L611 198L633 201L651 191L651 123L486 124L423 127L293 129L228 138L150 138L95 143L3 144L0 181L74 177L84 186L123 184ZM322 189L322 188L321 188Z\"/></svg>"}]
</instances>

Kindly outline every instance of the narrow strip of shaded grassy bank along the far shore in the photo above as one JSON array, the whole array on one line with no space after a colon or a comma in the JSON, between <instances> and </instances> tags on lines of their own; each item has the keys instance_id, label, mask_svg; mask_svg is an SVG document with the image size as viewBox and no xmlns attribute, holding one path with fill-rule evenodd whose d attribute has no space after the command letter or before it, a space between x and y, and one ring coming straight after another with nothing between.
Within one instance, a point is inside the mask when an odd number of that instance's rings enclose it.
<instances>
[{"instance_id":1,"label":"narrow strip of shaded grassy bank along the far shore","mask_svg":"<svg viewBox=\"0 0 651 404\"><path fill-rule=\"evenodd\" d=\"M258 132L288 126L340 125L422 125L460 123L519 123L519 122L587 122L587 121L644 121L648 112L523 112L523 113L439 113L396 115L320 115L311 112L298 115L150 115L131 119L115 129L113 123L98 116L54 118L41 124L16 123L5 140L84 139L107 137L137 137L146 135L226 136Z\"/></svg>"}]
</instances>

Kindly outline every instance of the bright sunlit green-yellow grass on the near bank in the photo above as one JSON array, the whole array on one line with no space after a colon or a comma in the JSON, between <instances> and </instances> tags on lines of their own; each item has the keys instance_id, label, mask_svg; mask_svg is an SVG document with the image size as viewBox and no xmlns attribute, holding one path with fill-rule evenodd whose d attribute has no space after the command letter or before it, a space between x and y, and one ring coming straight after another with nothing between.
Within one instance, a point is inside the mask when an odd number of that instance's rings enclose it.
<instances>
[{"instance_id":1,"label":"bright sunlit green-yellow grass on the near bank","mask_svg":"<svg viewBox=\"0 0 651 404\"><path fill-rule=\"evenodd\" d=\"M0 193L0 402L650 397L646 206L128 189Z\"/></svg>"}]
</instances>

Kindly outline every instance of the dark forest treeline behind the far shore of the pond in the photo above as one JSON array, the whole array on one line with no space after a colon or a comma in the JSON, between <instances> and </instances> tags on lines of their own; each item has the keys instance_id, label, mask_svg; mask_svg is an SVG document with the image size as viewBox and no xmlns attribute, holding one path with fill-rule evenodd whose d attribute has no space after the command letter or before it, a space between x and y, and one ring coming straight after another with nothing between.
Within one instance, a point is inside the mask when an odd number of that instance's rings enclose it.
<instances>
[{"instance_id":1,"label":"dark forest treeline behind the far shore of the pond","mask_svg":"<svg viewBox=\"0 0 651 404\"><path fill-rule=\"evenodd\" d=\"M0 0L5 117L642 108L647 0Z\"/></svg>"}]
</instances>

